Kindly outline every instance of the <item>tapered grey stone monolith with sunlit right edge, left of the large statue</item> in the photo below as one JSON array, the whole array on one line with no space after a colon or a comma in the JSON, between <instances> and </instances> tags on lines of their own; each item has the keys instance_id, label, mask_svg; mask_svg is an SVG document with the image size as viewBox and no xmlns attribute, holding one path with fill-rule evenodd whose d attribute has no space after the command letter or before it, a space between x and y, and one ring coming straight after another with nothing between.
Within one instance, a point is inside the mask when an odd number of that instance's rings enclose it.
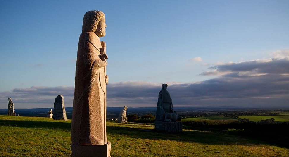
<instances>
[{"instance_id":1,"label":"tapered grey stone monolith with sunlit right edge, left of the large statue","mask_svg":"<svg viewBox=\"0 0 289 157\"><path fill-rule=\"evenodd\" d=\"M58 95L55 98L52 118L59 120L67 120L63 95Z\"/></svg>"}]
</instances>

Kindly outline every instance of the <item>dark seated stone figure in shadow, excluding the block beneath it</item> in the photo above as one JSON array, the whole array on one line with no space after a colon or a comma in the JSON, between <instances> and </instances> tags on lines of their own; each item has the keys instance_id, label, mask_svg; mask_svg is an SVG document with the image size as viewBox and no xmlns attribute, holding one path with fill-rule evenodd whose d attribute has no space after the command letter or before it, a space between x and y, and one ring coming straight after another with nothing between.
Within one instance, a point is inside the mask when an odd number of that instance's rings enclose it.
<instances>
[{"instance_id":1,"label":"dark seated stone figure in shadow, excluding the block beneath it","mask_svg":"<svg viewBox=\"0 0 289 157\"><path fill-rule=\"evenodd\" d=\"M156 121L176 122L181 120L181 116L173 109L172 98L167 91L167 87L167 84L162 84L162 90L159 92Z\"/></svg>"}]
</instances>

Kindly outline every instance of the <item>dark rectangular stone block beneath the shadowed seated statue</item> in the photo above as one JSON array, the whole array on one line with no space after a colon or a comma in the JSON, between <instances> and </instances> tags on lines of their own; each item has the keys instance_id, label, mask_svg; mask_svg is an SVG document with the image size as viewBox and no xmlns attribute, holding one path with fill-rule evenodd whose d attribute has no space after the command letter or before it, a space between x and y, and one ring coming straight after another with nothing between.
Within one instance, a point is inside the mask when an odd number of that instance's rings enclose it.
<instances>
[{"instance_id":1,"label":"dark rectangular stone block beneath the shadowed seated statue","mask_svg":"<svg viewBox=\"0 0 289 157\"><path fill-rule=\"evenodd\" d=\"M157 132L181 133L183 132L183 124L181 122L155 121L154 129Z\"/></svg>"}]
</instances>

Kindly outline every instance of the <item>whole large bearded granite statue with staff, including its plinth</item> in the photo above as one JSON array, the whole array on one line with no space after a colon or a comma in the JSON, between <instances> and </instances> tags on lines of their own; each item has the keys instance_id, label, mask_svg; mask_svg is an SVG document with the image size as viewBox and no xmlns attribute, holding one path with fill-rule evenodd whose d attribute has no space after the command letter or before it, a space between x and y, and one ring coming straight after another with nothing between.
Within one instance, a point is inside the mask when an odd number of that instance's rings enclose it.
<instances>
[{"instance_id":1,"label":"whole large bearded granite statue with staff, including its plinth","mask_svg":"<svg viewBox=\"0 0 289 157\"><path fill-rule=\"evenodd\" d=\"M72 156L110 156L106 136L105 15L98 10L83 17L76 59L71 119Z\"/></svg>"}]
</instances>

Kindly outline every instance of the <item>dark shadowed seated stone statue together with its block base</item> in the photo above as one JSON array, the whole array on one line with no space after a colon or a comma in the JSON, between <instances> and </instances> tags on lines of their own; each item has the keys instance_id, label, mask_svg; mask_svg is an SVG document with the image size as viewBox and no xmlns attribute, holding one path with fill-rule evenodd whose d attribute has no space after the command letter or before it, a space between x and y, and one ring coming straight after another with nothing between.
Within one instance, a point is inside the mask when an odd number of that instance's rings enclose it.
<instances>
[{"instance_id":1,"label":"dark shadowed seated stone statue together with its block base","mask_svg":"<svg viewBox=\"0 0 289 157\"><path fill-rule=\"evenodd\" d=\"M181 116L173 109L172 98L167 87L167 84L162 84L162 90L159 92L155 130L172 133L182 132L181 122L176 122L181 120Z\"/></svg>"}]
</instances>

